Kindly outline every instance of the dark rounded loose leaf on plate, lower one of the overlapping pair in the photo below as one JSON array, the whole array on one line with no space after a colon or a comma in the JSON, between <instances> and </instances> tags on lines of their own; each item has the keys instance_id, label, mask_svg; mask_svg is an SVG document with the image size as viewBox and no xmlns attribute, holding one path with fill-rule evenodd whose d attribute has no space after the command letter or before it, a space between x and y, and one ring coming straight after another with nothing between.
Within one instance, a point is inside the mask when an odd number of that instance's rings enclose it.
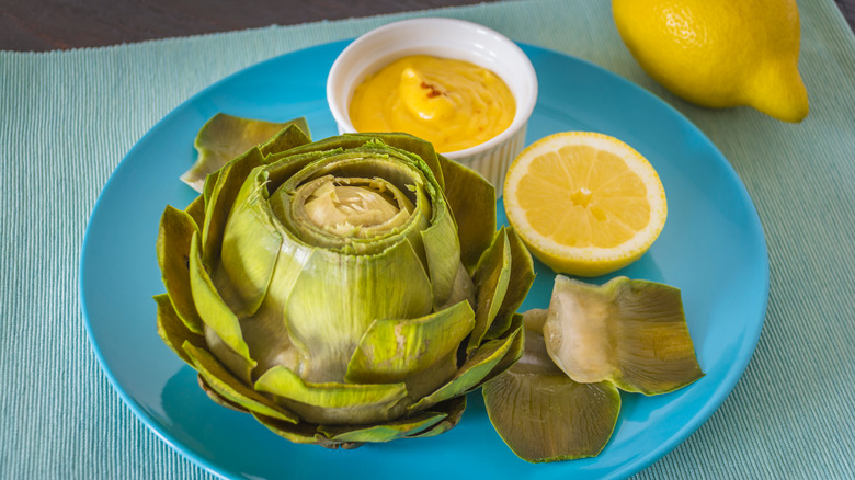
<instances>
[{"instance_id":1,"label":"dark rounded loose leaf on plate, lower one of the overlapping pair","mask_svg":"<svg viewBox=\"0 0 855 480\"><path fill-rule=\"evenodd\" d=\"M620 395L608 381L578 384L552 364L540 333L525 331L525 354L482 389L495 431L531 462L593 457L608 443Z\"/></svg>"}]
</instances>

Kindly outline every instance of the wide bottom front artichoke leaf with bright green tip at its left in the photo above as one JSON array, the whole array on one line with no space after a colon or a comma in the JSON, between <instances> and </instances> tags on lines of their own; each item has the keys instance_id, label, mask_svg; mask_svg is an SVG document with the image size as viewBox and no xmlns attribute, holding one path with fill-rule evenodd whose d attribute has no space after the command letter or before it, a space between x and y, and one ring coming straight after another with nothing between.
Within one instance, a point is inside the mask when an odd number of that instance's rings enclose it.
<instances>
[{"instance_id":1,"label":"wide bottom front artichoke leaf with bright green tip at its left","mask_svg":"<svg viewBox=\"0 0 855 480\"><path fill-rule=\"evenodd\" d=\"M400 384L305 381L287 367L274 366L255 381L255 389L275 396L303 419L318 424L385 422L400 415L392 409L407 397Z\"/></svg>"}]
</instances>

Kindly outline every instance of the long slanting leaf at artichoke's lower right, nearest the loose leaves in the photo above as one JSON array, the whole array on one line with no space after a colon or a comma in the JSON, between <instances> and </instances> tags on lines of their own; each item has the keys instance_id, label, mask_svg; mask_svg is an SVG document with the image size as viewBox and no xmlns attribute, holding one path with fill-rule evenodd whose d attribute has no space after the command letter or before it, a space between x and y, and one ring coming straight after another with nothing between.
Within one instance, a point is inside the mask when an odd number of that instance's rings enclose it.
<instances>
[{"instance_id":1,"label":"long slanting leaf at artichoke's lower right, nearest the loose leaves","mask_svg":"<svg viewBox=\"0 0 855 480\"><path fill-rule=\"evenodd\" d=\"M518 340L523 336L522 328L509 329L506 336L485 342L466 361L457 374L447 384L433 393L408 408L409 412L424 410L430 405L452 399L477 388L489 375L498 373L497 366L503 363L513 363L518 358ZM509 356L510 355L510 356Z\"/></svg>"}]
</instances>

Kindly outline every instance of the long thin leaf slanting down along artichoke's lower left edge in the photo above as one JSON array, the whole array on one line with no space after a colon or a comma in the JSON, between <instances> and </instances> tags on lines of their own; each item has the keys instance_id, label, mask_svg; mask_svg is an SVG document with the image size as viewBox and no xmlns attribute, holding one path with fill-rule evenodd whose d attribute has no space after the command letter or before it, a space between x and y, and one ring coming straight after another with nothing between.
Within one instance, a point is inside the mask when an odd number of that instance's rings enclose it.
<instances>
[{"instance_id":1,"label":"long thin leaf slanting down along artichoke's lower left edge","mask_svg":"<svg viewBox=\"0 0 855 480\"><path fill-rule=\"evenodd\" d=\"M244 409L267 416L297 423L299 419L292 412L275 404L269 398L248 387L231 375L217 359L204 348L190 342L184 342L184 352L193 361L193 365L212 390L226 400Z\"/></svg>"}]
</instances>

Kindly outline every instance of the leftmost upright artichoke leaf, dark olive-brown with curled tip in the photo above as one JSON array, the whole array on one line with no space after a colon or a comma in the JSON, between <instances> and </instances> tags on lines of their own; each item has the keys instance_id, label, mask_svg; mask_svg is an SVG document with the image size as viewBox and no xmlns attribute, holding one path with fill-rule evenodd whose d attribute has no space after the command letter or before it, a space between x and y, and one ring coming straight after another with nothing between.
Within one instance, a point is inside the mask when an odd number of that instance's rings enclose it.
<instances>
[{"instance_id":1,"label":"leftmost upright artichoke leaf, dark olive-brown with curled tip","mask_svg":"<svg viewBox=\"0 0 855 480\"><path fill-rule=\"evenodd\" d=\"M201 334L202 319L193 302L190 285L190 250L193 236L198 231L193 217L167 206L160 217L157 254L163 286L175 313L190 331Z\"/></svg>"}]
</instances>

